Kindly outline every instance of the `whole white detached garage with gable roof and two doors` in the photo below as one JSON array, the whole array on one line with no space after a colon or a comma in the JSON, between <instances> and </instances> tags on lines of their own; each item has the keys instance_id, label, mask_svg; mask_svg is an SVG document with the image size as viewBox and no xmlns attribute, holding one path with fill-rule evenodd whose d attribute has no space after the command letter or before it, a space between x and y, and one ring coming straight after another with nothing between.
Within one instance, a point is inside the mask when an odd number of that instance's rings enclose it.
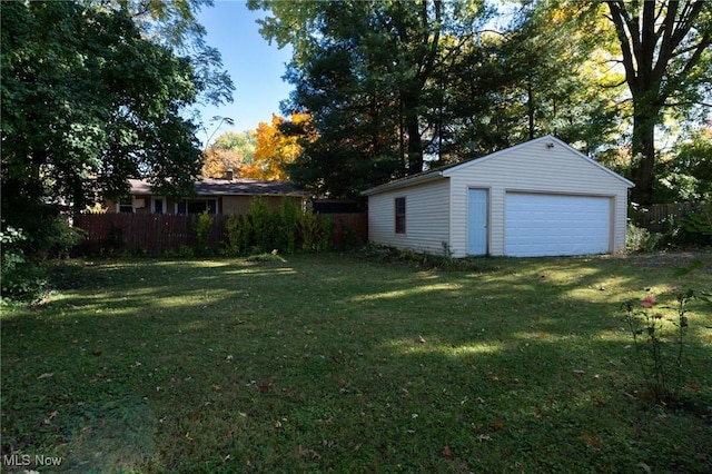
<instances>
[{"instance_id":1,"label":"whole white detached garage with gable roof and two doors","mask_svg":"<svg viewBox=\"0 0 712 474\"><path fill-rule=\"evenodd\" d=\"M374 244L454 257L540 257L624 250L632 186L546 136L363 195Z\"/></svg>"}]
</instances>

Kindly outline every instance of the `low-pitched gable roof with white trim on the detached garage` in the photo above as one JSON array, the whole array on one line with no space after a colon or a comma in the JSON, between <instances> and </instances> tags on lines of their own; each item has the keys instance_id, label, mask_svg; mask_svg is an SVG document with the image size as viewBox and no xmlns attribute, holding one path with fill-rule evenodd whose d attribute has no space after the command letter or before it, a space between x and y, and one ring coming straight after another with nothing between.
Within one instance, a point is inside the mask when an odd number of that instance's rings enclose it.
<instances>
[{"instance_id":1,"label":"low-pitched gable roof with white trim on the detached garage","mask_svg":"<svg viewBox=\"0 0 712 474\"><path fill-rule=\"evenodd\" d=\"M408 177L405 177L405 178L396 179L396 180L386 182L384 185L379 185L379 186L373 187L370 189L366 189L365 191L362 191L362 196L376 195L376 194L388 191L388 190L393 190L393 189L399 189L399 188L404 188L404 187L408 187L408 186L413 186L413 185L419 185L419 184L424 184L424 182L427 182L427 181L433 181L433 180L436 180L436 179L447 178L452 174L457 172L458 170L461 170L462 168L466 168L466 167L472 166L472 165L478 165L481 162L484 162L484 161L494 159L494 158L496 158L498 156L502 156L502 155L504 155L506 152L510 152L510 151L513 151L513 150L516 150L516 149L520 149L520 148L524 148L524 147L530 147L530 146L535 145L537 142L546 142L547 145L551 144L553 146L562 146L562 147L566 148L567 150L572 151L574 155L578 156L580 158L585 159L586 161L591 162L595 167L597 167L597 168L604 170L605 172L610 174L611 176L622 180L623 182L625 182L625 185L627 187L632 188L633 186L635 186L632 181L625 179L624 177L622 177L621 175L616 174L615 171L606 168L605 166L601 165L596 160L585 156L581 151L572 148L568 144L560 140L558 138L556 138L556 137L554 137L552 135L546 135L544 137L535 138L533 140L525 141L523 144L518 144L518 145L515 145L513 147L505 148L505 149L495 151L495 152L490 154L490 155L485 155L484 157L474 158L474 159L471 159L471 160L467 160L467 161L438 167L438 168L435 168L435 169L431 169L428 171L418 172L417 175L412 175L412 176L408 176Z\"/></svg>"}]
</instances>

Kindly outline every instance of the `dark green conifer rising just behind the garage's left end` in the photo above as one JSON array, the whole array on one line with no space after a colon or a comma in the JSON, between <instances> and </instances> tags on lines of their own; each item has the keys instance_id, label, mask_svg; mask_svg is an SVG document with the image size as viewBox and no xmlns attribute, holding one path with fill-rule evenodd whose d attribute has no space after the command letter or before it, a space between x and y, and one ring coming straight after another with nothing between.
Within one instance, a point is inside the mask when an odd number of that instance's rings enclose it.
<instances>
[{"instance_id":1,"label":"dark green conifer rising just behind the garage's left end","mask_svg":"<svg viewBox=\"0 0 712 474\"><path fill-rule=\"evenodd\" d=\"M296 86L291 105L313 120L293 127L305 137L304 151L287 170L317 196L355 197L405 168L394 90L386 81L365 79L362 70L365 61L347 43L316 50L304 66L288 70Z\"/></svg>"}]
</instances>

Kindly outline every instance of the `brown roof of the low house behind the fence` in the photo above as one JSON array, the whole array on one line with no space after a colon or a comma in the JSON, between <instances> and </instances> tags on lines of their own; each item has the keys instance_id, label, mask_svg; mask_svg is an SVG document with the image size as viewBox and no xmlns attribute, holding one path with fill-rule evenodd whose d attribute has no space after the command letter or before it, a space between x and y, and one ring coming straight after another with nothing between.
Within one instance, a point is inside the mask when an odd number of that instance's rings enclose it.
<instances>
[{"instance_id":1,"label":"brown roof of the low house behind the fence","mask_svg":"<svg viewBox=\"0 0 712 474\"><path fill-rule=\"evenodd\" d=\"M132 195L151 194L151 185L140 179L129 179ZM196 181L198 196L306 196L289 181L259 179L212 179Z\"/></svg>"}]
</instances>

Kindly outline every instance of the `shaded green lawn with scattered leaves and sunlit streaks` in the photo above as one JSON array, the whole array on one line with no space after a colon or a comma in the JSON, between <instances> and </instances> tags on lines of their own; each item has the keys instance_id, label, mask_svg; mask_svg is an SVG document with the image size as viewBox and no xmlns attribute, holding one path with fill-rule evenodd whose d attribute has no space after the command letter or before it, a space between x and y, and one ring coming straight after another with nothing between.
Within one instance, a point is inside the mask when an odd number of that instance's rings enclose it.
<instances>
[{"instance_id":1,"label":"shaded green lawn with scattered leaves and sunlit streaks","mask_svg":"<svg viewBox=\"0 0 712 474\"><path fill-rule=\"evenodd\" d=\"M675 406L621 309L712 287L703 258L60 265L2 310L3 471L709 472L709 307Z\"/></svg>"}]
</instances>

